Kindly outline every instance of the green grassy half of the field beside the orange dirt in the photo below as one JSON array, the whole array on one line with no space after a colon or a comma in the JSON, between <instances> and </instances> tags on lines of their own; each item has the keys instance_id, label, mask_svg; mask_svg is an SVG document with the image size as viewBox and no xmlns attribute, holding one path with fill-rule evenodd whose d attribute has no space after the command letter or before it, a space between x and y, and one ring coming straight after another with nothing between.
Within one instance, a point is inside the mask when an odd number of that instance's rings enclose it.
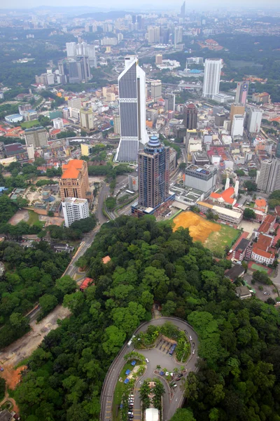
<instances>
[{"instance_id":1,"label":"green grassy half of the field beside the orange dirt","mask_svg":"<svg viewBox=\"0 0 280 421\"><path fill-rule=\"evenodd\" d=\"M231 248L240 234L241 231L239 229L221 225L220 231L211 232L204 246L211 251L218 250L223 252L226 246Z\"/></svg>"}]
</instances>

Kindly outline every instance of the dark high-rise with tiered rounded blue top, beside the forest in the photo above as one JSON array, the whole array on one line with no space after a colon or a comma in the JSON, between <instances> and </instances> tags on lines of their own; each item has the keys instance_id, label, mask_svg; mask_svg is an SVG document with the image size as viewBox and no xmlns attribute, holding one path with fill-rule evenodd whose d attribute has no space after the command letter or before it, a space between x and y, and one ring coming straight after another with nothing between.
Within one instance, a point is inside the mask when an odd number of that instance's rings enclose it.
<instances>
[{"instance_id":1,"label":"dark high-rise with tiered rounded blue top, beside the forest","mask_svg":"<svg viewBox=\"0 0 280 421\"><path fill-rule=\"evenodd\" d=\"M155 208L169 197L169 147L152 136L138 154L139 205Z\"/></svg>"}]
</instances>

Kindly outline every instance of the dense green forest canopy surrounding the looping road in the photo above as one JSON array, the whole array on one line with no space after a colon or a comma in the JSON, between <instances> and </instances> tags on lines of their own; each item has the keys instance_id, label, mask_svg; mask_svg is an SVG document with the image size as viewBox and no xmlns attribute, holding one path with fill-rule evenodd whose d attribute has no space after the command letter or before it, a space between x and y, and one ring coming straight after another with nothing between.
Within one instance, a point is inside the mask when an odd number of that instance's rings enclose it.
<instances>
[{"instance_id":1,"label":"dense green forest canopy surrounding the looping road","mask_svg":"<svg viewBox=\"0 0 280 421\"><path fill-rule=\"evenodd\" d=\"M185 385L187 419L280 420L279 311L237 298L224 276L231 262L216 262L188 229L122 216L102 226L84 263L94 286L64 295L73 315L32 354L15 391L22 420L99 420L106 371L125 338L151 319L154 301L174 303L172 314L200 336L200 370Z\"/></svg>"}]
</instances>

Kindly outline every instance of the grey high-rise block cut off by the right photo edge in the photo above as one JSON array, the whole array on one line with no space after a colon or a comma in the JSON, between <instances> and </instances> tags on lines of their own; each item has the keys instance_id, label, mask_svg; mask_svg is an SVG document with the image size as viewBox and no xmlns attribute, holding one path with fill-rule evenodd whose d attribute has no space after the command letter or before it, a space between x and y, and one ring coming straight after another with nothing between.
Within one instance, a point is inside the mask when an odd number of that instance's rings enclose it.
<instances>
[{"instance_id":1,"label":"grey high-rise block cut off by the right photo edge","mask_svg":"<svg viewBox=\"0 0 280 421\"><path fill-rule=\"evenodd\" d=\"M265 159L260 167L258 190L270 194L280 190L280 159Z\"/></svg>"}]
</instances>

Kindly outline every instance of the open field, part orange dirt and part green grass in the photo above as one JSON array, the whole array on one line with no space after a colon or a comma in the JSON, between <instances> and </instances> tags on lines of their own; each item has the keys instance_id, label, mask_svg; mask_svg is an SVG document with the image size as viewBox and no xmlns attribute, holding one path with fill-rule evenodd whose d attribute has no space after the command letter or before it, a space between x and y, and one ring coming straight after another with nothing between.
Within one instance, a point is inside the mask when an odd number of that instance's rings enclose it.
<instances>
[{"instance_id":1,"label":"open field, part orange dirt and part green grass","mask_svg":"<svg viewBox=\"0 0 280 421\"><path fill-rule=\"evenodd\" d=\"M179 227L188 228L194 241L201 241L209 250L220 254L225 247L231 247L240 234L238 229L211 222L190 211L179 213L174 224L174 231Z\"/></svg>"}]
</instances>

